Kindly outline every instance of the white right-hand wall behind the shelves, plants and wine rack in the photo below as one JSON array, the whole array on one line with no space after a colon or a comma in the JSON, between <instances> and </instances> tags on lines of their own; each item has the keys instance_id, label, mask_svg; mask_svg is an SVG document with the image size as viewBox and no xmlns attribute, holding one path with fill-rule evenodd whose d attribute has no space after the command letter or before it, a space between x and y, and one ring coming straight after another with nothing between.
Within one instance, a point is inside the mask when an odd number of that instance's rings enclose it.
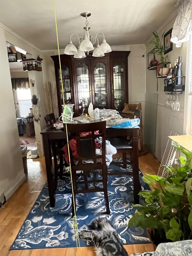
<instances>
[{"instance_id":1,"label":"white right-hand wall behind the shelves, plants and wine rack","mask_svg":"<svg viewBox=\"0 0 192 256\"><path fill-rule=\"evenodd\" d=\"M173 28L176 17L170 20L166 26L164 26L159 32L159 36L164 31L169 31ZM153 41L153 40L152 40ZM148 43L146 45L146 63L147 63L147 53L154 48L154 45ZM176 45L173 44L173 50L167 53L168 60L171 62L171 66L174 66L174 62L179 56L182 56L182 75L185 76L186 71L186 56L187 56L187 42L183 44L181 48L176 48ZM158 59L158 55L156 56ZM159 59L158 59L159 60ZM147 65L147 64L146 64ZM167 95L164 92L164 79L156 78L156 71L146 70L146 92L156 92L157 93L157 82L158 82L158 106L157 106L157 126L156 126L156 146L155 146L155 156L161 162L165 147L167 145L168 135L170 132L176 131L180 135L183 133L183 113L184 113L184 92L182 95L179 95L179 100L182 105L180 108L180 113L177 111L167 109L164 106L165 101L167 100ZM162 114L163 113L163 114Z\"/></svg>"}]
</instances>

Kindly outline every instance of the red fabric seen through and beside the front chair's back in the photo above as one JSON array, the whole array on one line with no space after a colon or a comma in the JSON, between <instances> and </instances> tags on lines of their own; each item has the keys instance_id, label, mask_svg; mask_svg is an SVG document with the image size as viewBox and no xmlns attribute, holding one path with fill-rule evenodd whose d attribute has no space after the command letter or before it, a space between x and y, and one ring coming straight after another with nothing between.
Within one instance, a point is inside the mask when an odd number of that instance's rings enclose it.
<instances>
[{"instance_id":1,"label":"red fabric seen through and beside the front chair's back","mask_svg":"<svg viewBox=\"0 0 192 256\"><path fill-rule=\"evenodd\" d=\"M95 131L95 134L99 134L99 131ZM91 135L91 131L89 132L80 132L79 133L79 136L80 137L85 137L87 135ZM69 141L69 146L70 146L70 149L71 149L71 153L73 155L74 158L77 158L79 155L78 155L78 151L77 151L77 142L75 139L72 139ZM96 149L99 149L101 147L101 145L99 144L98 141L95 141L95 148ZM67 148L67 144L62 148L62 150L64 151L64 158L65 158L65 161L67 162L67 164L69 164L69 155L68 155L68 148Z\"/></svg>"}]
</instances>

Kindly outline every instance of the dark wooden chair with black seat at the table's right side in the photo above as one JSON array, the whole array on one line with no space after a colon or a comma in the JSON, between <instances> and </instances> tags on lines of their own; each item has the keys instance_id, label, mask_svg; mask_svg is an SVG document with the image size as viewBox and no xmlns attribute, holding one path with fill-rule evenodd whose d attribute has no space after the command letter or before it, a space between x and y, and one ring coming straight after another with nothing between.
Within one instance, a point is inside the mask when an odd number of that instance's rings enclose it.
<instances>
[{"instance_id":1,"label":"dark wooden chair with black seat at the table's right side","mask_svg":"<svg viewBox=\"0 0 192 256\"><path fill-rule=\"evenodd\" d=\"M134 110L134 116L136 118L139 118L141 120L142 118L142 111L135 109ZM133 147L132 147L132 140L128 140L126 138L107 138L107 140L110 141L111 145L113 145L117 149L117 153L121 153L123 156L123 168L127 167L127 164L132 164L133 161ZM130 154L131 156L131 161L127 161L127 154ZM119 173L125 174L125 171L123 172L114 172L113 174L110 173L110 175L116 175ZM130 175L130 171L127 171L128 175Z\"/></svg>"}]
</instances>

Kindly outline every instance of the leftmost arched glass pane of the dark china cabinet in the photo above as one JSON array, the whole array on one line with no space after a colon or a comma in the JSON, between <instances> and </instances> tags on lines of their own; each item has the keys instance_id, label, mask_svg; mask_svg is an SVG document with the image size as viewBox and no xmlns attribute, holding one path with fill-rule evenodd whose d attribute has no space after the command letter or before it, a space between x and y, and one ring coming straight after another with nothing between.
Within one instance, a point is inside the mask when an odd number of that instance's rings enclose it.
<instances>
[{"instance_id":1,"label":"leftmost arched glass pane of the dark china cabinet","mask_svg":"<svg viewBox=\"0 0 192 256\"><path fill-rule=\"evenodd\" d=\"M61 66L61 74L63 80L63 91L64 91L64 103L71 104L72 100L72 91L69 79L69 68L66 65ZM63 94L62 94L62 86L61 86L61 74L59 69L59 83L60 83L60 93L61 93L61 105L63 105Z\"/></svg>"}]
</instances>

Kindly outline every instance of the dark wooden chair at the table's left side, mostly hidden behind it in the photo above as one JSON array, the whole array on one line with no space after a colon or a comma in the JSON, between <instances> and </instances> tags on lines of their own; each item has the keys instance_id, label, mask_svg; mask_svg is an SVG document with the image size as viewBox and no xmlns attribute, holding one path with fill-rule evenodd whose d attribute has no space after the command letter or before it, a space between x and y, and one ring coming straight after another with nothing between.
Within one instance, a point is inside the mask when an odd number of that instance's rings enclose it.
<instances>
[{"instance_id":1,"label":"dark wooden chair at the table's left side, mostly hidden behind it","mask_svg":"<svg viewBox=\"0 0 192 256\"><path fill-rule=\"evenodd\" d=\"M49 127L50 125L56 122L54 113L44 116L44 119L47 127ZM63 176L62 147L64 146L64 144L65 142L63 143L63 140L51 140L51 147L52 147L53 161L54 161L54 168L55 168L55 190L57 189L58 169L59 169L59 177L62 178ZM60 159L59 166L57 163L57 155L59 155L59 159Z\"/></svg>"}]
</instances>

